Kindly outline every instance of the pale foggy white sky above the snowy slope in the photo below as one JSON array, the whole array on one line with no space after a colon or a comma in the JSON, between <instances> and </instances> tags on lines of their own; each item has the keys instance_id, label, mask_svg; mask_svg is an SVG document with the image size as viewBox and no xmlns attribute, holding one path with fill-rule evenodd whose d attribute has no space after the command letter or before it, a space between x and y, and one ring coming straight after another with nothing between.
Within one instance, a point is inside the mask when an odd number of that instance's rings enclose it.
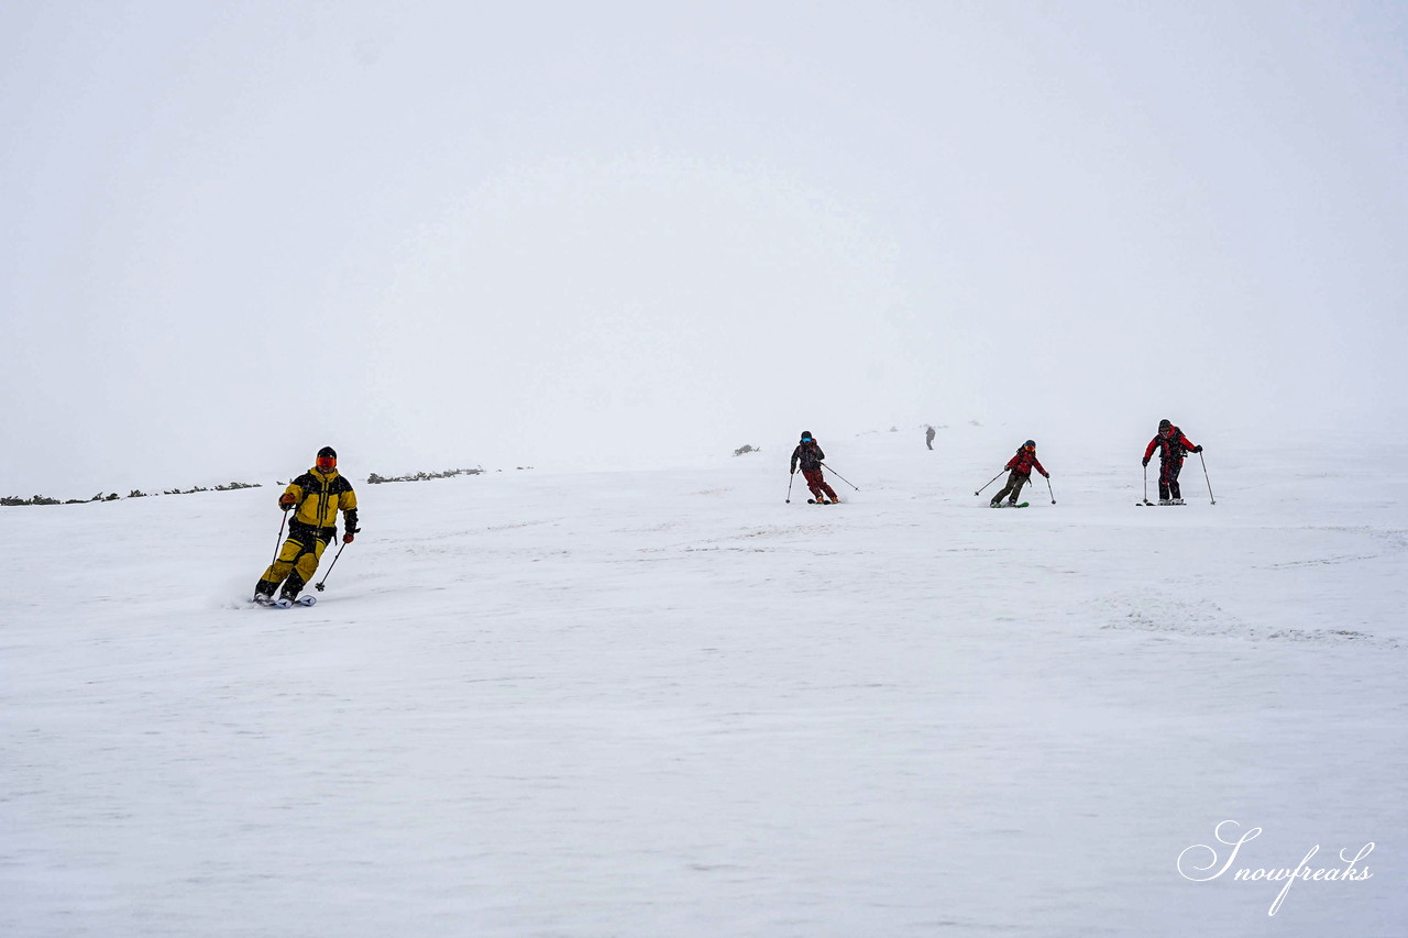
<instances>
[{"instance_id":1,"label":"pale foggy white sky above the snowy slope","mask_svg":"<svg viewBox=\"0 0 1408 938\"><path fill-rule=\"evenodd\" d=\"M1397 421L1405 49L1385 3L3 3L0 494Z\"/></svg>"}]
</instances>

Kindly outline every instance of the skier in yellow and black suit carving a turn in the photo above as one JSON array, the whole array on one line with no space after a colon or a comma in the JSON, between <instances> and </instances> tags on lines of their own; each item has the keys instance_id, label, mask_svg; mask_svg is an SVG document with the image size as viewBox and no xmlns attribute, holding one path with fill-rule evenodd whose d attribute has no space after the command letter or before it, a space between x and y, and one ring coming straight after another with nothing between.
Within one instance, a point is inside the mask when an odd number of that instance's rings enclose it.
<instances>
[{"instance_id":1,"label":"skier in yellow and black suit carving a turn","mask_svg":"<svg viewBox=\"0 0 1408 938\"><path fill-rule=\"evenodd\" d=\"M282 599L298 599L318 570L322 549L338 535L338 511L346 521L344 544L352 544L360 530L356 525L356 493L346 476L338 473L338 454L332 446L320 449L317 465L289 483L279 496L279 507L284 511L293 508L293 520L279 556L255 584L255 601L260 604L273 601L273 592L280 583Z\"/></svg>"}]
</instances>

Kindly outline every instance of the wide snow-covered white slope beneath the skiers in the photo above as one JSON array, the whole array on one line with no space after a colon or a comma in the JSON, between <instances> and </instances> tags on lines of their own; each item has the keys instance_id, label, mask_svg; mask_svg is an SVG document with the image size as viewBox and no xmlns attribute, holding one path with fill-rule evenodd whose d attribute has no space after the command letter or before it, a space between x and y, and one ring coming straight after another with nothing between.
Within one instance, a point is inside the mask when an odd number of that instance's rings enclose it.
<instances>
[{"instance_id":1,"label":"wide snow-covered white slope beneath the skiers","mask_svg":"<svg viewBox=\"0 0 1408 938\"><path fill-rule=\"evenodd\" d=\"M6 508L0 934L1408 932L1408 454L1025 435L363 483L287 611L276 487Z\"/></svg>"}]
</instances>

